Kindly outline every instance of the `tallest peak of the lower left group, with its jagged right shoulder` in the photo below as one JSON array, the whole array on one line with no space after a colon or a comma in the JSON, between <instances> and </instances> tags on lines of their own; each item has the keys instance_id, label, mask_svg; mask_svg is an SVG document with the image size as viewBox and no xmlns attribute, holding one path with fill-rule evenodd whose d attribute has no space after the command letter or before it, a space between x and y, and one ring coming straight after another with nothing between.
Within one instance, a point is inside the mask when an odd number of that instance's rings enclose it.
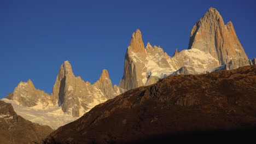
<instances>
[{"instance_id":1,"label":"tallest peak of the lower left group, with its jagged right shoulder","mask_svg":"<svg viewBox=\"0 0 256 144\"><path fill-rule=\"evenodd\" d=\"M63 112L74 117L83 115L95 105L107 100L101 89L90 82L84 82L80 76L75 77L68 61L61 65L52 97L59 99Z\"/></svg>"}]
</instances>

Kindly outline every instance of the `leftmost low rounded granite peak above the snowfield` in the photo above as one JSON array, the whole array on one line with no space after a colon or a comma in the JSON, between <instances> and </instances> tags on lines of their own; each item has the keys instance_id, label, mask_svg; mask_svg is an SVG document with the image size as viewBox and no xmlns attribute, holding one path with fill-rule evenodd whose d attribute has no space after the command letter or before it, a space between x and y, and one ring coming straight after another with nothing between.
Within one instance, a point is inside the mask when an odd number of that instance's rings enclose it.
<instances>
[{"instance_id":1,"label":"leftmost low rounded granite peak above the snowfield","mask_svg":"<svg viewBox=\"0 0 256 144\"><path fill-rule=\"evenodd\" d=\"M49 105L53 105L50 95L40 89L36 89L30 79L27 82L21 81L13 93L6 98L18 101L20 105L27 107L40 105L42 109L45 109Z\"/></svg>"}]
</instances>

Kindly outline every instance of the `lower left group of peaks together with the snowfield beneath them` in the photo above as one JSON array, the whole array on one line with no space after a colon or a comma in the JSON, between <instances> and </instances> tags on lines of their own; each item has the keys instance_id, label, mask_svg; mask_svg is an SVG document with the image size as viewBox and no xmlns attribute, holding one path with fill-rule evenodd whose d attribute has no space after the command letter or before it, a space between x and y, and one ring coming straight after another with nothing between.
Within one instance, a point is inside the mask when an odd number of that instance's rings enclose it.
<instances>
[{"instance_id":1,"label":"lower left group of peaks together with the snowfield beneath them","mask_svg":"<svg viewBox=\"0 0 256 144\"><path fill-rule=\"evenodd\" d=\"M60 67L52 94L36 89L33 82L28 80L20 82L14 92L2 100L13 104L15 111L22 117L56 129L121 92L123 93L121 88L112 86L106 69L102 71L100 79L91 85L80 76L75 77L71 64L65 61ZM61 120L63 122L59 122Z\"/></svg>"}]
</instances>

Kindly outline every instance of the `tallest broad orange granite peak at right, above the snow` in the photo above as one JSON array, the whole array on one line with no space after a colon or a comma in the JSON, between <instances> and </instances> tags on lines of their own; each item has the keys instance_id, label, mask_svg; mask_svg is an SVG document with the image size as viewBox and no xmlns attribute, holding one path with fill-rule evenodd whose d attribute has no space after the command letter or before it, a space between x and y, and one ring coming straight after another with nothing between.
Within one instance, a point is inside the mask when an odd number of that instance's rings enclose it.
<instances>
[{"instance_id":1,"label":"tallest broad orange granite peak at right, above the snow","mask_svg":"<svg viewBox=\"0 0 256 144\"><path fill-rule=\"evenodd\" d=\"M214 8L208 9L192 28L188 49L199 49L210 53L219 61L219 65L226 64L231 59L248 60L232 22L225 25L222 16ZM242 66L244 65L238 65L238 67Z\"/></svg>"}]
</instances>

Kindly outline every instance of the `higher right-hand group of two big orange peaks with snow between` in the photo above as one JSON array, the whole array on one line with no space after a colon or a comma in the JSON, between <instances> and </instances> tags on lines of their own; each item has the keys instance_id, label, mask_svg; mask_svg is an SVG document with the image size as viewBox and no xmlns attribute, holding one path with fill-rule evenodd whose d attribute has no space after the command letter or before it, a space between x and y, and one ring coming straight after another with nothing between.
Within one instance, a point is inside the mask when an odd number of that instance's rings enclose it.
<instances>
[{"instance_id":1,"label":"higher right-hand group of two big orange peaks with snow between","mask_svg":"<svg viewBox=\"0 0 256 144\"><path fill-rule=\"evenodd\" d=\"M132 34L125 55L120 87L126 90L147 86L173 74L205 74L252 64L243 50L232 22L224 25L219 12L210 8L191 30L189 49L173 57L159 46L144 47L139 29Z\"/></svg>"}]
</instances>

